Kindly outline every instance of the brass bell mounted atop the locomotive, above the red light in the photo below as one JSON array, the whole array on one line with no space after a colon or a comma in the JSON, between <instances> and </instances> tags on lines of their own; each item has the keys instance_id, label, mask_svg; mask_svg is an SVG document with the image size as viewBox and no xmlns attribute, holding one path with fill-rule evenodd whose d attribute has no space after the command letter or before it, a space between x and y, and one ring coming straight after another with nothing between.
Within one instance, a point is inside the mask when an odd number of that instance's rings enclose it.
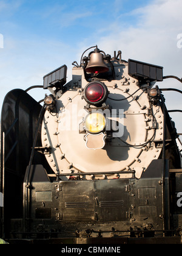
<instances>
[{"instance_id":1,"label":"brass bell mounted atop the locomotive, above the red light","mask_svg":"<svg viewBox=\"0 0 182 256\"><path fill-rule=\"evenodd\" d=\"M105 73L109 71L106 64L104 63L104 56L101 54L98 48L94 52L89 54L90 62L86 66L87 73Z\"/></svg>"}]
</instances>

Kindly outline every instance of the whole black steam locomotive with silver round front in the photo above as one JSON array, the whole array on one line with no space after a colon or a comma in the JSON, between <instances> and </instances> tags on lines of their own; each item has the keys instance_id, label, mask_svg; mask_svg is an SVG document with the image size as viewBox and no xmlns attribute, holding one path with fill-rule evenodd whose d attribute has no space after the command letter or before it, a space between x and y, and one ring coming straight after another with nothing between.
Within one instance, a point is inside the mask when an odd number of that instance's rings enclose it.
<instances>
[{"instance_id":1,"label":"whole black steam locomotive with silver round front","mask_svg":"<svg viewBox=\"0 0 182 256\"><path fill-rule=\"evenodd\" d=\"M66 65L44 76L40 102L35 87L5 96L1 238L181 243L180 138L163 94L181 91L155 85L181 79L98 46L72 64L70 82Z\"/></svg>"}]
</instances>

